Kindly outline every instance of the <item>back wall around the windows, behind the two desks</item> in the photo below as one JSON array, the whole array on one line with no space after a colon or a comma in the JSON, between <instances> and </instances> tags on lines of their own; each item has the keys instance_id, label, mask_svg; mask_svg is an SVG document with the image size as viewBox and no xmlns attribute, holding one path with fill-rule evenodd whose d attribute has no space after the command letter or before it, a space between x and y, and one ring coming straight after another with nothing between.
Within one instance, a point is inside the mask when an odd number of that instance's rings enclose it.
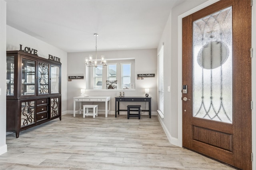
<instances>
[{"instance_id":1,"label":"back wall around the windows, behind the two desks","mask_svg":"<svg viewBox=\"0 0 256 170\"><path fill-rule=\"evenodd\" d=\"M85 57L89 54L94 55L93 52L82 53L68 53L68 76L84 76L88 77L86 66L84 65ZM142 50L122 50L122 51L97 51L97 55L105 55L106 59L135 59L135 90L86 90L87 96L111 96L111 112L114 114L115 99L120 92L124 92L125 96L145 96L145 88L150 88L149 95L152 97L152 112L157 109L157 88L156 77L144 78L144 80L137 80L137 74L156 74L156 49L142 49ZM107 61L111 63L111 61ZM72 80L68 82L68 110L72 113L73 97L80 96L80 89L86 88L86 79ZM101 107L101 106L100 106ZM125 106L120 106L125 107ZM144 104L142 104L144 108ZM148 105L146 106L148 107ZM78 107L76 108L78 109ZM145 113L148 114L148 113Z\"/></svg>"}]
</instances>

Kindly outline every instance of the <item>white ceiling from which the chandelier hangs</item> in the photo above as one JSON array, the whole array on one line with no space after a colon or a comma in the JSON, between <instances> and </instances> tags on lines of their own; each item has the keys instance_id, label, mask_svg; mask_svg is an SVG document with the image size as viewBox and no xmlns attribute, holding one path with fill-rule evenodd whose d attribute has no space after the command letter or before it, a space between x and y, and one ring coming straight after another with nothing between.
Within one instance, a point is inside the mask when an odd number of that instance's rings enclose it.
<instances>
[{"instance_id":1,"label":"white ceiling from which the chandelier hangs","mask_svg":"<svg viewBox=\"0 0 256 170\"><path fill-rule=\"evenodd\" d=\"M184 0L5 0L7 25L66 52L157 48Z\"/></svg>"}]
</instances>

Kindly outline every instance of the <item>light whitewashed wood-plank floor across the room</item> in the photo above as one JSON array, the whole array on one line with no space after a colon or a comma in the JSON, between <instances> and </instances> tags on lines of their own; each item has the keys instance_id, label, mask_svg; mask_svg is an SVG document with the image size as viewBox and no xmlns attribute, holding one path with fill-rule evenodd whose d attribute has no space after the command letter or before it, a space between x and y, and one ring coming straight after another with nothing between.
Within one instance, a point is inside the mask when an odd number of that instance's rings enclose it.
<instances>
[{"instance_id":1,"label":"light whitewashed wood-plank floor across the room","mask_svg":"<svg viewBox=\"0 0 256 170\"><path fill-rule=\"evenodd\" d=\"M71 114L6 136L0 170L232 170L171 145L156 116Z\"/></svg>"}]
</instances>

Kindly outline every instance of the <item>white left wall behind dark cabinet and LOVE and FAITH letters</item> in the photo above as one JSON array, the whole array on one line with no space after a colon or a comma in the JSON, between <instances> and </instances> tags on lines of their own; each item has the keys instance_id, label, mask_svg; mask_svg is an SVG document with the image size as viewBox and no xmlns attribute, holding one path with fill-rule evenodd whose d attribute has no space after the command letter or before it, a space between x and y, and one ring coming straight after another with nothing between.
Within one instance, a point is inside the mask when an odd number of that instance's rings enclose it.
<instances>
[{"instance_id":1,"label":"white left wall behind dark cabinet and LOVE and FAITH letters","mask_svg":"<svg viewBox=\"0 0 256 170\"><path fill-rule=\"evenodd\" d=\"M61 93L62 93L62 112L67 110L67 53L50 44L47 44L35 37L19 31L7 25L6 31L6 51L20 50L22 47L30 47L38 50L38 56L48 59L49 54L60 58L61 69Z\"/></svg>"}]
</instances>

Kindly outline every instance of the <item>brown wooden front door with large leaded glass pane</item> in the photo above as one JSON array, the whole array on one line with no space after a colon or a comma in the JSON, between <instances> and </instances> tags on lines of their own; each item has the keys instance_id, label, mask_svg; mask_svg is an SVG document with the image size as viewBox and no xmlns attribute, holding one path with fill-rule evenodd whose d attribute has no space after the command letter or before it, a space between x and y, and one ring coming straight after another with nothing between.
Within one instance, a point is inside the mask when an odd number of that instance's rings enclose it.
<instances>
[{"instance_id":1,"label":"brown wooden front door with large leaded glass pane","mask_svg":"<svg viewBox=\"0 0 256 170\"><path fill-rule=\"evenodd\" d=\"M220 0L182 21L183 147L252 169L250 0Z\"/></svg>"}]
</instances>

